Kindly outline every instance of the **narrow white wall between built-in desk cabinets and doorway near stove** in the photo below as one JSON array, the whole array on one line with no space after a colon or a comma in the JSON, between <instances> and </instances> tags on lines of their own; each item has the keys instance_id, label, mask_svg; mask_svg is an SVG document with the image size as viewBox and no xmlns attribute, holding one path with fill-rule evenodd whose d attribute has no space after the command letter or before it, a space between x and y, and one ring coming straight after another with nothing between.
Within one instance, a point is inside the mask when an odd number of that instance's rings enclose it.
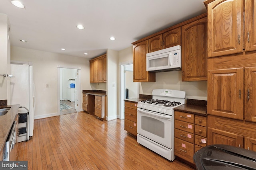
<instances>
[{"instance_id":1,"label":"narrow white wall between built-in desk cabinets and doorway near stove","mask_svg":"<svg viewBox=\"0 0 256 170\"><path fill-rule=\"evenodd\" d=\"M107 50L107 106L108 116L106 119L117 119L117 85L118 85L118 51Z\"/></svg>"}]
</instances>

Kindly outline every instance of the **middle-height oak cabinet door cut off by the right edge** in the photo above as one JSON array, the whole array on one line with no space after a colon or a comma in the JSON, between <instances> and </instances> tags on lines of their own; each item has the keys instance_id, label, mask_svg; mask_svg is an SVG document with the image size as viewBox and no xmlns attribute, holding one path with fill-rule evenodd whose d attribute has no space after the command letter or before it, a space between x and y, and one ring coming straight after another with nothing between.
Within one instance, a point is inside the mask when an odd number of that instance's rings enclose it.
<instances>
[{"instance_id":1,"label":"middle-height oak cabinet door cut off by the right edge","mask_svg":"<svg viewBox=\"0 0 256 170\"><path fill-rule=\"evenodd\" d=\"M244 70L244 119L256 122L256 67Z\"/></svg>"}]
</instances>

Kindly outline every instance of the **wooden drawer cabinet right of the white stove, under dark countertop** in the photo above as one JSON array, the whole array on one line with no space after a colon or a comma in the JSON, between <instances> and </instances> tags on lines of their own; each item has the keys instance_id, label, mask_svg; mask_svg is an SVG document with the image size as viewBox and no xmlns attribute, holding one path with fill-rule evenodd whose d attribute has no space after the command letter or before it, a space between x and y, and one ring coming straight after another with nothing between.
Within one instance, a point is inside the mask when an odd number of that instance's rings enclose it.
<instances>
[{"instance_id":1,"label":"wooden drawer cabinet right of the white stove, under dark countertop","mask_svg":"<svg viewBox=\"0 0 256 170\"><path fill-rule=\"evenodd\" d=\"M174 113L174 154L194 164L194 153L207 144L206 117L181 111Z\"/></svg>"}]
</instances>

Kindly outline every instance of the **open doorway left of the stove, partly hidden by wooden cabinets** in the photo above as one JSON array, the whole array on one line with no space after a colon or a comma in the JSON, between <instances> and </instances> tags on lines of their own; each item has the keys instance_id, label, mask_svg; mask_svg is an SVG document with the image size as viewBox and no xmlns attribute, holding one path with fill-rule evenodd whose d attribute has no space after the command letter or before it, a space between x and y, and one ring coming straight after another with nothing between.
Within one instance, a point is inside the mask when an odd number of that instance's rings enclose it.
<instances>
[{"instance_id":1,"label":"open doorway left of the stove, partly hidden by wooden cabinets","mask_svg":"<svg viewBox=\"0 0 256 170\"><path fill-rule=\"evenodd\" d=\"M125 62L120 63L121 70L121 104L119 119L124 119L124 100L129 98L139 98L140 96L140 83L133 82L133 63Z\"/></svg>"}]
</instances>

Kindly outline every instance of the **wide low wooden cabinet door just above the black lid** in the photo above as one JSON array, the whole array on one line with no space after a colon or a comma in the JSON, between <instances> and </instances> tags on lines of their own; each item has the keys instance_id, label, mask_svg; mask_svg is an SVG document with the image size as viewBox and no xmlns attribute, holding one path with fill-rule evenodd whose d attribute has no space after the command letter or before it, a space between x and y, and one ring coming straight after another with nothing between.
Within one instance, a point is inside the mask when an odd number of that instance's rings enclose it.
<instances>
[{"instance_id":1,"label":"wide low wooden cabinet door just above the black lid","mask_svg":"<svg viewBox=\"0 0 256 170\"><path fill-rule=\"evenodd\" d=\"M222 144L243 148L243 136L208 127L207 145Z\"/></svg>"}]
</instances>

